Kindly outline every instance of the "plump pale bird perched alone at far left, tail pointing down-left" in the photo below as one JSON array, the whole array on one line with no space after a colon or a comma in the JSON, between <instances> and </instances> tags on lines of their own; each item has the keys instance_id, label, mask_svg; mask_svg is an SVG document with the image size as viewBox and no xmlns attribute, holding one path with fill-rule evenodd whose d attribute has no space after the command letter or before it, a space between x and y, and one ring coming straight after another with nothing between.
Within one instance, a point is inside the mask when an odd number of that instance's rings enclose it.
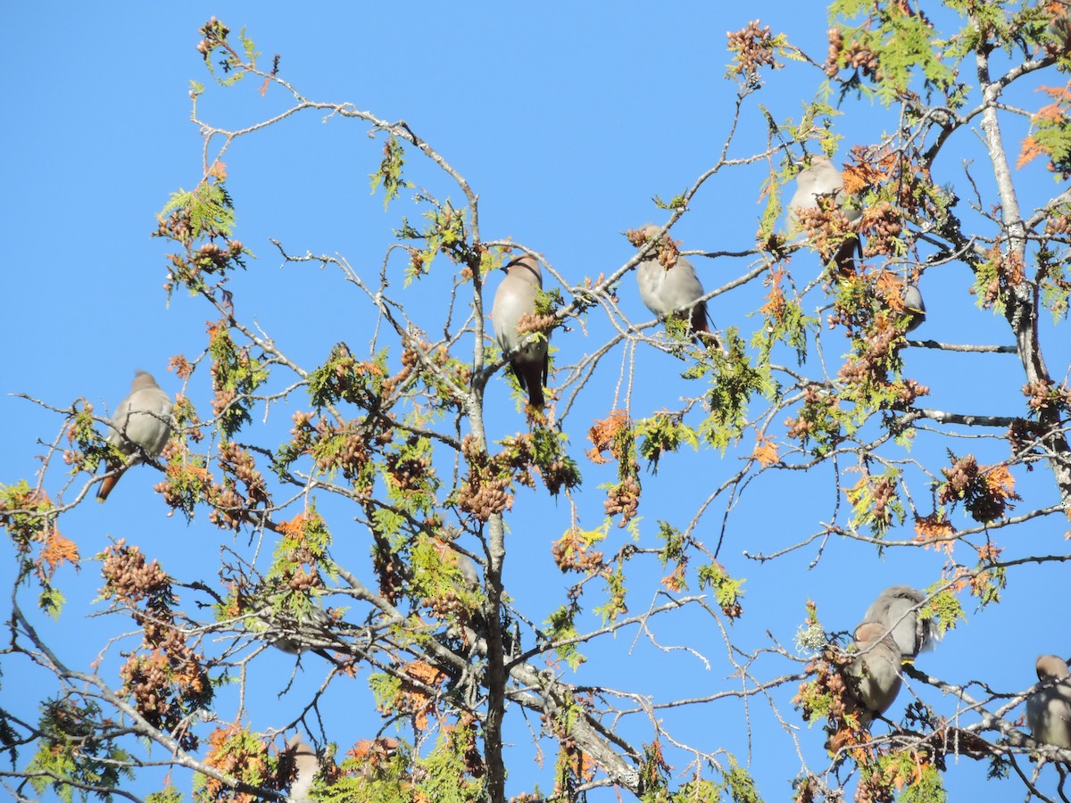
<instances>
[{"instance_id":1,"label":"plump pale bird perched alone at far left, tail pointing down-left","mask_svg":"<svg viewBox=\"0 0 1071 803\"><path fill-rule=\"evenodd\" d=\"M116 457L105 460L105 469L110 473L101 481L96 501L103 502L116 487L123 472L140 463L145 457L156 457L167 439L171 437L171 397L156 384L151 374L138 370L131 382L131 392L116 408L108 422L107 441L127 457L124 463Z\"/></svg>"}]
</instances>

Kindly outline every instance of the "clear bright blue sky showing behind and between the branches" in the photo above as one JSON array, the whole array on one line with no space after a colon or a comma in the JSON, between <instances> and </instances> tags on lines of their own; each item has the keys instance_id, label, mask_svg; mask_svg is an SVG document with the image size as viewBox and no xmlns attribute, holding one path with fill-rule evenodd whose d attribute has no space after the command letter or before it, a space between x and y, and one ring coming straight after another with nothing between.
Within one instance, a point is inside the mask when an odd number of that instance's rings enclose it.
<instances>
[{"instance_id":1,"label":"clear bright blue sky showing behind and between the branches","mask_svg":"<svg viewBox=\"0 0 1071 803\"><path fill-rule=\"evenodd\" d=\"M821 60L828 28L824 5L815 2L791 9L775 2L730 9L721 3L679 2L660 13L649 3L634 2L471 3L464 7L361 3L346 9L311 4L300 10L283 3L101 7L63 3L9 10L9 30L18 34L9 37L0 56L9 76L7 124L0 132L9 154L4 163L7 193L0 201L0 253L6 255L7 263L0 279L7 299L0 321L7 344L0 410L10 422L0 428L0 482L29 476L39 465L34 455L44 450L39 440L52 441L62 426L56 413L7 394L25 393L56 407L85 397L97 410L111 409L124 395L136 367L155 374L168 392L178 392L180 381L165 370L168 358L181 352L192 359L205 347L206 321L215 315L181 291L167 304L162 289L166 251L150 232L169 193L180 186L190 188L200 178L201 139L190 122L187 90L191 78L208 81L194 47L197 29L213 14L236 33L244 26L265 54L263 63L272 54L281 54L282 75L310 99L350 102L382 119L405 119L479 193L484 240L512 238L524 243L573 282L608 274L623 264L632 248L621 232L666 217L652 204L652 196L672 197L716 162L736 93L736 84L723 79L729 61L725 31L743 28L758 17L775 31L786 31L794 44ZM745 104L730 157L765 148L766 127L757 103L775 119L798 119L821 79L817 70L799 64L764 76L767 86ZM1025 105L1041 103L1027 93L1020 100ZM240 127L276 113L287 103L277 88L260 97L252 85L230 92L210 86L199 102L199 112L216 125ZM879 105L846 104L835 123L844 135L839 158L845 158L851 145L876 141L895 124L894 113ZM1024 123L1009 125L1010 149L1025 131ZM229 285L238 314L255 319L306 368L322 360L338 340L362 352L375 320L366 301L341 275L313 264L283 267L268 239L280 240L290 253L343 256L361 275L375 275L392 242L391 229L403 215L414 219L422 211L404 196L384 212L380 197L369 195L367 173L378 165L381 140L369 139L365 132L365 126L353 121L306 113L239 140L224 156L239 215L237 236L257 257ZM960 136L960 150L941 165L946 173L939 180L956 186L961 208L966 208L970 196L962 190L964 161L979 154L977 140ZM409 153L408 165L410 180L461 203L456 187L416 153ZM981 163L971 168L983 193L992 188L984 167ZM682 247L752 247L767 172L763 163L727 170L709 182L674 229ZM1040 164L1017 172L1016 181L1027 202L1062 188L1053 184ZM794 270L804 271L809 259L816 275L813 255L798 256ZM406 290L402 289L402 261L392 260L390 271L396 276L392 290L427 331L434 332L437 322L441 330L441 292L450 279L446 260L436 263L437 275ZM727 258L694 261L707 288L745 269L743 262ZM491 279L492 287L496 281ZM922 290L931 317L917 333L919 337L1010 343L1002 321L975 307L966 291L969 283L962 267L926 273ZM746 313L761 303L764 292L760 283L754 282L713 299L714 322L750 333L758 324ZM634 322L650 320L631 276L621 283L619 297L621 309ZM1049 321L1042 323L1049 332ZM574 322L571 330L555 334L559 365L591 353L612 333L599 310L583 328ZM1059 343L1065 342L1066 336ZM827 346L827 354L833 357L841 350ZM1062 377L1066 344L1049 353L1051 370ZM604 360L567 421L571 452L580 460L587 488L577 514L588 528L602 520L597 486L612 474L583 458L589 445L585 434L594 419L623 404L625 385L620 372L630 359L619 346ZM949 355L916 349L907 362L910 375L933 390L925 400L927 407L1006 415L1023 410L1023 380L1012 355ZM636 350L635 369L639 377L631 395L635 418L673 408L679 397L697 393L680 378L683 366L679 361L650 348ZM835 365L830 367L834 370ZM187 393L207 414L210 395L205 372L195 376ZM523 428L523 416L512 407L504 381L493 381L488 397L494 411L488 418L492 437ZM307 409L307 402L274 408L267 416L260 410L255 419L261 429L250 439L277 445L297 409ZM910 456L936 469L942 465L946 445L938 438L920 436L918 451ZM744 454L748 448L745 443ZM974 441L952 448L960 453L977 449L981 461L983 455L992 461L1006 452L999 443ZM708 449L698 455L685 452L680 460L665 460L657 475L645 473L640 546L657 545L657 519L687 526L706 496L738 465L738 454L730 452L723 459ZM52 491L63 482L58 468L48 480ZM843 472L846 467L839 468ZM765 476L731 511L726 511L720 498L700 519L697 535L713 548L724 534L720 559L731 574L748 578L745 617L728 634L741 648L771 647L769 632L793 651L808 599L817 602L828 627L849 630L885 586L926 586L938 579L944 563L939 554L890 549L878 556L873 546L846 540L828 543L817 563L816 546L768 563L743 556L745 550L754 556L782 549L829 521L836 501L833 471L820 467L806 476L790 476L790 482ZM1055 499L1045 470L1017 479L1025 489L1024 509ZM205 566L215 561L221 547L253 549L244 534L233 539L209 526L203 513L188 526L180 517L166 516L166 507L151 493L156 481L150 469L132 472L107 505L90 500L69 514L61 522L64 533L78 543L84 557L99 552L109 537L125 537L141 544L171 574L186 579L210 571ZM75 486L81 482L76 479ZM929 512L929 499L915 502L921 512ZM508 520L507 586L517 606L533 619L541 619L563 600L569 580L553 565L549 544L569 526L572 513L563 498L552 500L545 493L528 489L517 494ZM359 565L367 556L366 534L351 522L353 532L347 532L344 513L336 520L336 557L348 557ZM954 522L970 524L963 517ZM1062 528L1062 522L1045 519L1014 536L1001 533L996 537L1009 547L1009 555L1059 552L1066 550ZM902 534L909 536L909 530ZM614 528L606 551L618 548L624 539L625 533ZM270 551L270 545L266 549ZM66 657L72 664L87 663L104 649L108 635L121 627L111 618L87 619L101 607L93 605L101 586L97 572L94 563L84 564L77 577L69 572L61 580L61 585L70 584L64 586L70 589L69 607L58 623L42 625L54 638L70 639ZM367 570L360 574L367 576ZM654 597L659 569L648 556L646 569L637 574L629 599L633 612L642 611ZM920 658L920 666L949 682L983 680L996 690L1017 692L1034 682L1038 652L1066 651L1038 616L1057 589L1064 593L1059 571L1016 567L1009 579L1002 606L976 617L972 601L965 600L969 623L950 633L936 652ZM1000 643L996 656L994 634L999 634ZM740 687L739 679L726 680L733 671L727 648L709 618L684 612L668 619L657 636L663 646L694 647L710 660L710 668L690 653L667 652L643 637L634 641L634 631L627 631L591 647L578 680L634 688L660 700ZM304 660L305 669L299 671L295 688L276 698L286 685L292 660L265 653L257 661L265 669L253 681L248 721L258 729L282 727L298 715L301 693L315 687L322 672L314 660ZM766 679L797 670L795 664L779 664L767 656L755 676ZM4 704L14 706L12 694L41 682L41 676L22 663L5 662L3 681ZM941 713L953 713L953 701L934 690L915 691ZM778 799L799 772L797 744L812 767L821 766L824 737L819 728L808 729L787 703L794 692L789 685L776 695L784 724L771 715L760 696L752 698L748 710L735 700L719 701L667 710L664 718L675 738L693 740L705 751L721 746L731 751L749 763L763 793ZM902 693L894 710L902 711L909 699ZM346 745L379 727L364 676L340 691L333 702L335 708L325 723L330 739ZM226 703L221 703L221 714L225 711ZM33 716L32 711L24 710L24 714ZM648 741L649 723L636 718L624 727L634 728L631 732L639 734L637 740ZM536 768L525 725L514 716L511 728L510 791L530 789L533 781L548 789L553 759L547 759L543 770ZM684 762L677 762L676 769L682 771ZM984 768L963 760L950 767L947 778L955 797L966 796L981 789ZM176 782L188 790L188 778L176 777ZM151 786L141 789L149 790ZM594 799L610 799L609 793L602 794Z\"/></svg>"}]
</instances>

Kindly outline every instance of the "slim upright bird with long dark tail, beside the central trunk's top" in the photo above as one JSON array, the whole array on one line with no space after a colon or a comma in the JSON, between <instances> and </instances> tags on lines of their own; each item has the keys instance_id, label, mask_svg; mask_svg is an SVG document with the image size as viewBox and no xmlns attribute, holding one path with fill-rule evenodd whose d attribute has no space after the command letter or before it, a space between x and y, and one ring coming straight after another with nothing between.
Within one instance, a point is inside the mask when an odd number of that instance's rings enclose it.
<instances>
[{"instance_id":1,"label":"slim upright bird with long dark tail, beside the central trunk's top","mask_svg":"<svg viewBox=\"0 0 1071 803\"><path fill-rule=\"evenodd\" d=\"M510 368L521 389L528 391L529 406L542 410L550 335L546 333L532 337L530 332L519 334L517 323L525 313L536 314L536 294L543 289L543 273L539 261L527 254L512 260L503 270L506 278L498 286L495 303L491 307L495 338L502 353L509 358ZM517 346L526 338L528 342L518 349Z\"/></svg>"}]
</instances>

